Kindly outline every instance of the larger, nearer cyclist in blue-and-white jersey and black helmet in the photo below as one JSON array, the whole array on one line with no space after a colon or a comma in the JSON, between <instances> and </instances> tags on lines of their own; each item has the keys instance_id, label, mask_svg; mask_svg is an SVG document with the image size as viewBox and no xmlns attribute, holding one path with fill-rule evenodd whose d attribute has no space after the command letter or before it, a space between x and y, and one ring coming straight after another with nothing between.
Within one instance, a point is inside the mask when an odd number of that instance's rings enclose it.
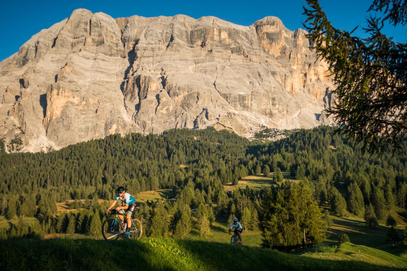
<instances>
[{"instance_id":1,"label":"larger, nearer cyclist in blue-and-white jersey and black helmet","mask_svg":"<svg viewBox=\"0 0 407 271\"><path fill-rule=\"evenodd\" d=\"M121 199L122 200L122 206L119 206L116 208L116 211L118 213L125 213L125 210L127 210L127 215L126 215L126 219L127 219L127 224L125 223L125 235L129 236L130 235L130 227L131 227L131 215L133 215L133 211L134 208L136 208L136 199L134 197L132 197L129 193L125 192L125 187L124 186L119 186L116 190L117 195L116 195L116 199L112 202L112 204L110 204L110 207L106 209L107 212L109 212L109 210L111 208L113 208L113 206L116 205L116 202ZM124 205L123 205L124 204ZM122 222L124 222L124 217L123 215L119 215L119 218Z\"/></svg>"}]
</instances>

